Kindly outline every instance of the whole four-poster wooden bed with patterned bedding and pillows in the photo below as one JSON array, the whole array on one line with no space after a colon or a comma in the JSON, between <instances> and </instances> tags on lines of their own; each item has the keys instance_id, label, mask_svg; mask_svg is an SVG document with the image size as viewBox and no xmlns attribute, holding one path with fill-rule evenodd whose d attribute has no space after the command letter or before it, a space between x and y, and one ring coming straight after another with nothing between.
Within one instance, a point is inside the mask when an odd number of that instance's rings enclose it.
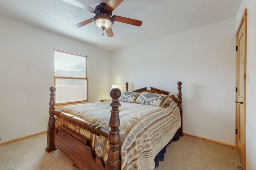
<instances>
[{"instance_id":1,"label":"whole four-poster wooden bed with patterned bedding and pillows","mask_svg":"<svg viewBox=\"0 0 256 170\"><path fill-rule=\"evenodd\" d=\"M125 92L111 89L112 101L60 110L50 87L46 151L58 148L79 169L154 169L166 146L184 135L182 82L177 85L177 98L153 87L129 92L126 83Z\"/></svg>"}]
</instances>

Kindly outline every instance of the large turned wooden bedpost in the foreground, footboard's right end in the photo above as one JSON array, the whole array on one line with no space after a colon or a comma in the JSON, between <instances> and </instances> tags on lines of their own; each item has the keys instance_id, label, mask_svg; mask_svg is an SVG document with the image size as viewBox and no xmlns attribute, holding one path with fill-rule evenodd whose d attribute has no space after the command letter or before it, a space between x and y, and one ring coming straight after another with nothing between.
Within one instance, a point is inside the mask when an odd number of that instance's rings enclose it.
<instances>
[{"instance_id":1,"label":"large turned wooden bedpost in the foreground, footboard's right end","mask_svg":"<svg viewBox=\"0 0 256 170\"><path fill-rule=\"evenodd\" d=\"M112 98L112 102L110 103L110 106L112 106L111 109L111 116L109 120L109 136L108 136L108 143L109 143L109 150L108 150L108 160L106 162L106 170L120 170L121 169L121 161L120 161L120 149L119 149L119 141L120 136L118 129L120 125L120 119L119 119L119 109L118 107L121 106L121 104L118 101L118 98L121 96L121 91L119 88L112 88L110 90L110 96Z\"/></svg>"}]
</instances>

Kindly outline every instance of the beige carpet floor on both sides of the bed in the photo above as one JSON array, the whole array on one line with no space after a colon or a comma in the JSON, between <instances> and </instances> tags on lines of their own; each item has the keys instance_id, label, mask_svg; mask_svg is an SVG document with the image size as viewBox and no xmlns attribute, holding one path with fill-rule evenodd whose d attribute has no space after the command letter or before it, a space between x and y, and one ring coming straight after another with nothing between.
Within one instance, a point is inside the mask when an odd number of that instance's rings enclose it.
<instances>
[{"instance_id":1,"label":"beige carpet floor on both sides of the bed","mask_svg":"<svg viewBox=\"0 0 256 170\"><path fill-rule=\"evenodd\" d=\"M0 147L1 170L78 170L60 150L47 153L46 134ZM242 170L234 148L189 136L166 149L165 160L155 170Z\"/></svg>"}]
</instances>

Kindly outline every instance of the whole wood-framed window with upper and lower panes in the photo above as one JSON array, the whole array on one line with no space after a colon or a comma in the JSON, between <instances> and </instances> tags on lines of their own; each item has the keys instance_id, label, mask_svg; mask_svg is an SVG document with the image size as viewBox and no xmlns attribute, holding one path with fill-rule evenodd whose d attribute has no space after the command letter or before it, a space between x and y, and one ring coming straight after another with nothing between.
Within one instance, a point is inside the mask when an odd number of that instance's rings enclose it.
<instances>
[{"instance_id":1,"label":"whole wood-framed window with upper and lower panes","mask_svg":"<svg viewBox=\"0 0 256 170\"><path fill-rule=\"evenodd\" d=\"M88 102L87 56L54 49L56 104Z\"/></svg>"}]
</instances>

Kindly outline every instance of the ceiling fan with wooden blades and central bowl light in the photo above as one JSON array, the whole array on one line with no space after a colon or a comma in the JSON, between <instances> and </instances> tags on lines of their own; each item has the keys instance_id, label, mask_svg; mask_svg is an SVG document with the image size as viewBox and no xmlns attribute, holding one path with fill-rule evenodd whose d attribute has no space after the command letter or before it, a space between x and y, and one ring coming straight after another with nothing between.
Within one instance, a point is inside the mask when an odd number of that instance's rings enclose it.
<instances>
[{"instance_id":1,"label":"ceiling fan with wooden blades and central bowl light","mask_svg":"<svg viewBox=\"0 0 256 170\"><path fill-rule=\"evenodd\" d=\"M97 25L97 27L101 28L103 31L104 29L106 30L108 37L113 37L114 34L111 26L113 25L114 21L128 23L131 25L136 25L138 27L142 24L142 21L139 21L139 20L134 20L131 18L125 18L121 16L116 16L116 15L112 16L112 11L119 4L121 4L123 0L110 0L108 4L100 3L100 5L96 6L95 9L91 8L90 6L84 5L80 2L77 2L76 0L62 0L62 1L72 4L74 6L77 6L79 8L82 8L84 10L90 11L95 14L93 18L90 18L76 25L73 25L73 27L76 27L76 28L80 28L84 25L87 25L88 23L94 22ZM104 35L104 33L102 35Z\"/></svg>"}]
</instances>

